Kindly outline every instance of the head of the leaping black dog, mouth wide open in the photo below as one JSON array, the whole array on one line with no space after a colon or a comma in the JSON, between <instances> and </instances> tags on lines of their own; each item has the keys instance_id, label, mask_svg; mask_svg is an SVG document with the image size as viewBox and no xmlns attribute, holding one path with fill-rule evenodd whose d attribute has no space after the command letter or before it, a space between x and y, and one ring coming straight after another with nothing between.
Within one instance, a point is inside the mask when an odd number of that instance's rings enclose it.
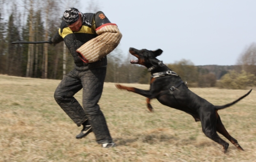
<instances>
[{"instance_id":1,"label":"head of the leaping black dog, mouth wide open","mask_svg":"<svg viewBox=\"0 0 256 162\"><path fill-rule=\"evenodd\" d=\"M155 51L150 51L147 49L135 49L130 48L129 52L131 55L134 55L138 60L131 60L131 64L140 64L147 68L149 67L157 67L159 65L159 60L156 58L157 56L161 55L163 50L157 49Z\"/></svg>"}]
</instances>

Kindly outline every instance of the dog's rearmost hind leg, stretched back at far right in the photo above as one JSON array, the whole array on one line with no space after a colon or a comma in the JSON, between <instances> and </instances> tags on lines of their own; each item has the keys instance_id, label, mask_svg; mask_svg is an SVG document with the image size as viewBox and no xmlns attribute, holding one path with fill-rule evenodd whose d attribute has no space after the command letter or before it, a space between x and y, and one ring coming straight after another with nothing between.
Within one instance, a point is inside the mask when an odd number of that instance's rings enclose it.
<instances>
[{"instance_id":1,"label":"dog's rearmost hind leg, stretched back at far right","mask_svg":"<svg viewBox=\"0 0 256 162\"><path fill-rule=\"evenodd\" d=\"M217 112L216 114L218 115ZM236 148L242 151L244 150L243 148L241 148L237 140L230 136L230 134L227 132L227 130L225 129L224 125L221 122L220 116L217 116L216 130L218 131L218 133L221 133L224 137L226 137L233 145L235 145Z\"/></svg>"}]
</instances>

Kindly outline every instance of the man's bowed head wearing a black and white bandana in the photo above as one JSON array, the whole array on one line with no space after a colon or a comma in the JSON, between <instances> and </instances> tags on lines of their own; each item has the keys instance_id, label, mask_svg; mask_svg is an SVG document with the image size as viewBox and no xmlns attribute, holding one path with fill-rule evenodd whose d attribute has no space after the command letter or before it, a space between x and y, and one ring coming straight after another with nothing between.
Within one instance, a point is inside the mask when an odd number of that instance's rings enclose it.
<instances>
[{"instance_id":1,"label":"man's bowed head wearing a black and white bandana","mask_svg":"<svg viewBox=\"0 0 256 162\"><path fill-rule=\"evenodd\" d=\"M79 32L82 26L81 13L76 8L67 9L63 14L63 20L73 32Z\"/></svg>"}]
</instances>

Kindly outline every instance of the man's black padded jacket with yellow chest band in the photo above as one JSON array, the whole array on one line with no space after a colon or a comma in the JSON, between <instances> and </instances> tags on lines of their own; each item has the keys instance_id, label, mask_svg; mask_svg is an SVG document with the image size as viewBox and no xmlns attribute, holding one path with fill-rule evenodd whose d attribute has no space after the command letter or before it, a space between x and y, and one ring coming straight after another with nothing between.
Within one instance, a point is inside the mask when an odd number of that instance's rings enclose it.
<instances>
[{"instance_id":1,"label":"man's black padded jacket with yellow chest band","mask_svg":"<svg viewBox=\"0 0 256 162\"><path fill-rule=\"evenodd\" d=\"M67 48L70 50L70 53L73 56L75 68L80 71L107 66L107 57L104 57L97 62L87 64L81 60L81 58L76 52L76 49L78 49L84 43L97 37L97 34L95 32L96 28L105 23L111 23L107 17L105 17L103 20L100 19L100 14L103 14L103 12L97 12L95 14L82 14L83 25L79 32L72 32L70 28L67 26L67 24L64 21L62 21L61 26L58 29L58 32L56 32L55 35L51 38L51 41L54 44L64 41L64 43L66 44Z\"/></svg>"}]
</instances>

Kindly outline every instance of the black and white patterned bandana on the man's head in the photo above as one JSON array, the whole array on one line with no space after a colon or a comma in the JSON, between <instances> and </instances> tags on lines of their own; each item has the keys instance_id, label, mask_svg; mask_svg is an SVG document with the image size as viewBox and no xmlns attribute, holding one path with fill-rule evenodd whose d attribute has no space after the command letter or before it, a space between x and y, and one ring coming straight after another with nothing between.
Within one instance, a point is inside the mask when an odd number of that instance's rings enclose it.
<instances>
[{"instance_id":1,"label":"black and white patterned bandana on the man's head","mask_svg":"<svg viewBox=\"0 0 256 162\"><path fill-rule=\"evenodd\" d=\"M67 25L75 23L79 19L79 10L76 8L67 9L63 14L63 19Z\"/></svg>"}]
</instances>

